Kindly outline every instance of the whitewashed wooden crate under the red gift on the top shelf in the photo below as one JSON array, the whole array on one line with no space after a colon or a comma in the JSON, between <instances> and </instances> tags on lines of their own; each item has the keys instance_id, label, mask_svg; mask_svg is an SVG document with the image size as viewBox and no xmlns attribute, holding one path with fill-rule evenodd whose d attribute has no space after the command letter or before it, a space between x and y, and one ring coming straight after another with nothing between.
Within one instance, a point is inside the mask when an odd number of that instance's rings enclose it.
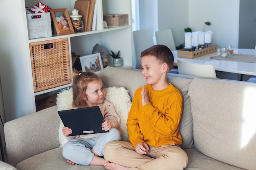
<instances>
[{"instance_id":1,"label":"whitewashed wooden crate under the red gift on the top shelf","mask_svg":"<svg viewBox=\"0 0 256 170\"><path fill-rule=\"evenodd\" d=\"M40 17L36 17L40 15ZM52 36L51 15L47 13L27 14L29 39Z\"/></svg>"}]
</instances>

